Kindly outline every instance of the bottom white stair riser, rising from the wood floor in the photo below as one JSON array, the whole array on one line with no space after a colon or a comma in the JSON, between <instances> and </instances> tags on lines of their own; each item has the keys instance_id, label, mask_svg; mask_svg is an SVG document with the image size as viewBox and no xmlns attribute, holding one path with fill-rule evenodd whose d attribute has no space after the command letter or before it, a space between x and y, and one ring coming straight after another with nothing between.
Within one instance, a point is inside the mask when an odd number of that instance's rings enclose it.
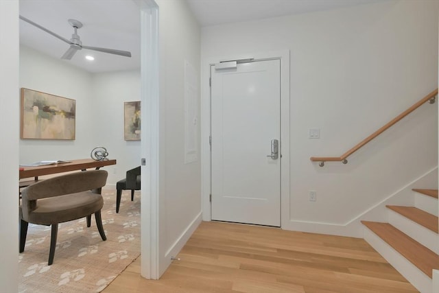
<instances>
[{"instance_id":1,"label":"bottom white stair riser, rising from the wood floor","mask_svg":"<svg viewBox=\"0 0 439 293\"><path fill-rule=\"evenodd\" d=\"M364 239L417 290L421 293L432 293L433 282L431 279L366 227L364 228Z\"/></svg>"}]
</instances>

